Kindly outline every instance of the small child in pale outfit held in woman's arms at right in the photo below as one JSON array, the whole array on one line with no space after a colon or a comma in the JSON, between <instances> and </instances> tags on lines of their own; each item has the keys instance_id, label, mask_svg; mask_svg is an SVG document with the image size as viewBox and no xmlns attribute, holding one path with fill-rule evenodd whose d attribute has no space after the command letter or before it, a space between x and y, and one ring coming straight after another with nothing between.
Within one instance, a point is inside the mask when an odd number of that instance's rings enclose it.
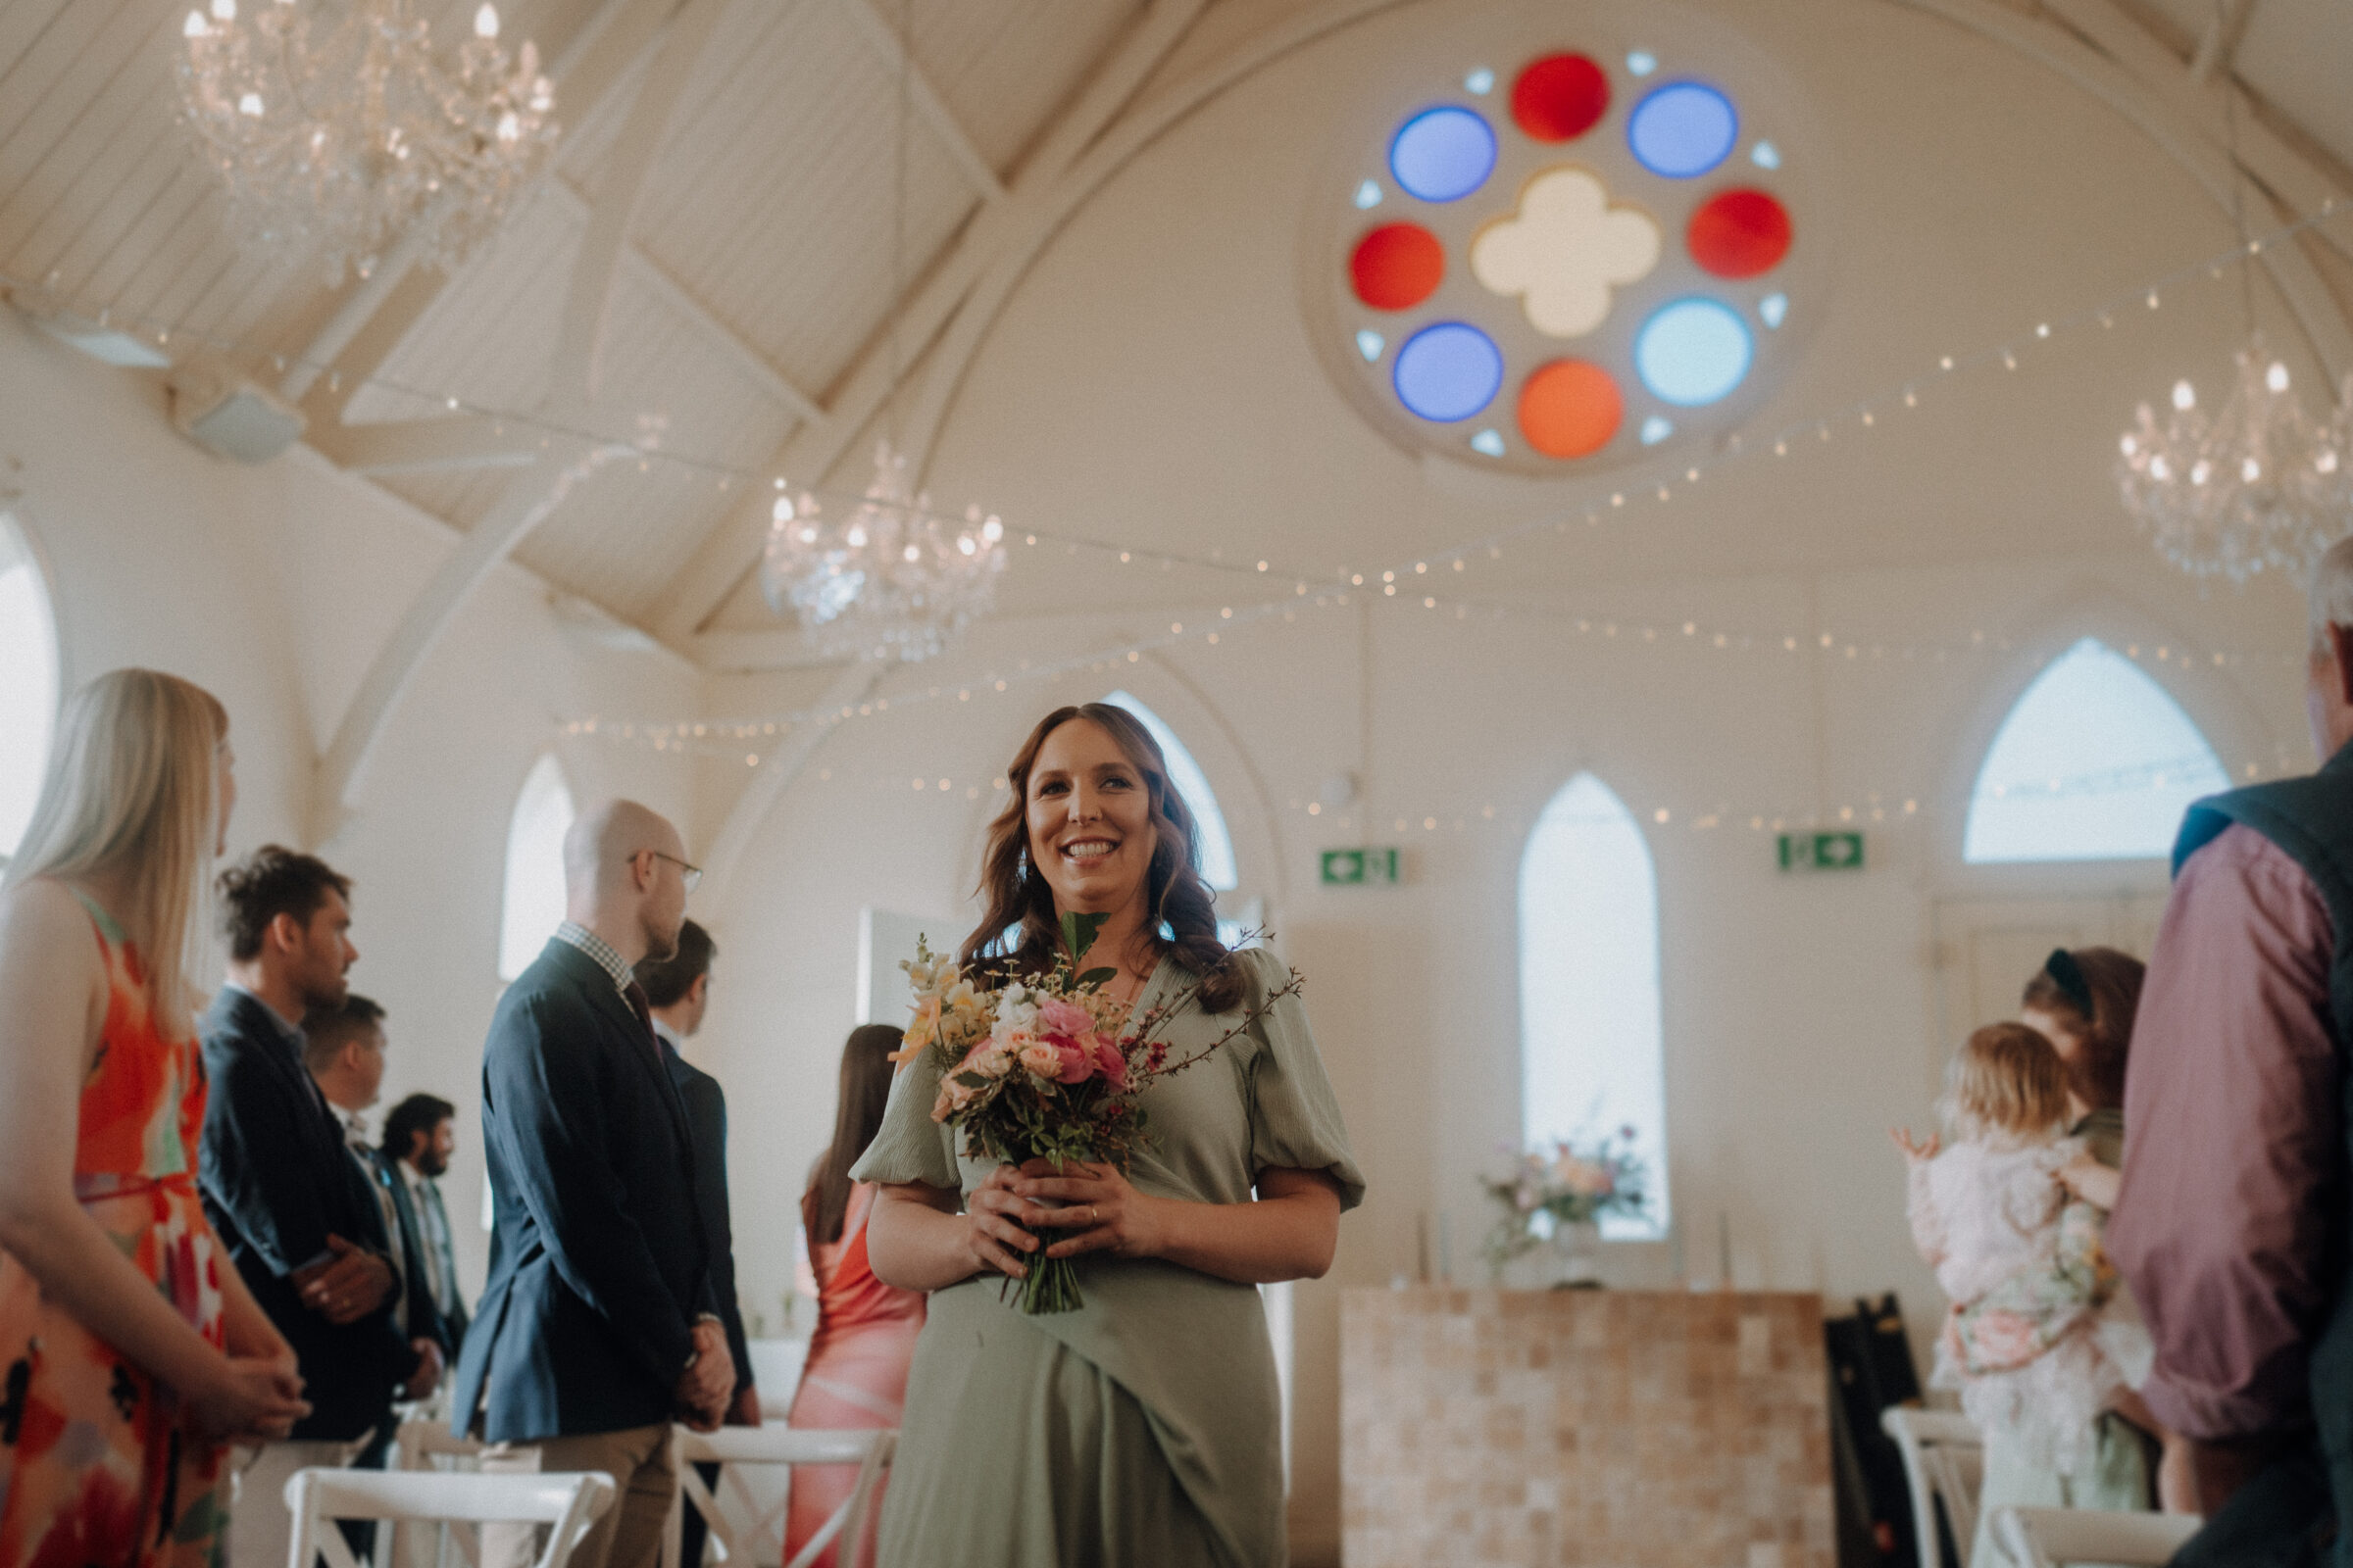
<instances>
[{"instance_id":1,"label":"small child in pale outfit held in woman's arms at right","mask_svg":"<svg viewBox=\"0 0 2353 1568\"><path fill-rule=\"evenodd\" d=\"M2146 1509L2148 1455L2111 1406L2148 1371L2148 1335L2111 1312L2115 1272L2101 1211L2059 1173L2066 1065L2021 1023L1979 1030L1953 1058L1953 1145L1897 1131L1911 1161L1911 1225L1951 1298L1934 1387L1960 1389L1984 1434L1972 1568L2007 1563L1991 1519L2002 1507Z\"/></svg>"}]
</instances>

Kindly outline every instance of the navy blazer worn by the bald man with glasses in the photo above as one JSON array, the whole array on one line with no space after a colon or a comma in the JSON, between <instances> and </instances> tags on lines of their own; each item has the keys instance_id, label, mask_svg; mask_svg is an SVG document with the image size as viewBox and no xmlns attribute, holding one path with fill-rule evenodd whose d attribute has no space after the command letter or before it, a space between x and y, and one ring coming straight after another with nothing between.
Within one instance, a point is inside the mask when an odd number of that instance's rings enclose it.
<instances>
[{"instance_id":1,"label":"navy blazer worn by the bald man with glasses","mask_svg":"<svg viewBox=\"0 0 2353 1568\"><path fill-rule=\"evenodd\" d=\"M671 1420L718 1312L687 1110L612 976L548 940L482 1048L489 1284L456 1363L492 1443Z\"/></svg>"}]
</instances>

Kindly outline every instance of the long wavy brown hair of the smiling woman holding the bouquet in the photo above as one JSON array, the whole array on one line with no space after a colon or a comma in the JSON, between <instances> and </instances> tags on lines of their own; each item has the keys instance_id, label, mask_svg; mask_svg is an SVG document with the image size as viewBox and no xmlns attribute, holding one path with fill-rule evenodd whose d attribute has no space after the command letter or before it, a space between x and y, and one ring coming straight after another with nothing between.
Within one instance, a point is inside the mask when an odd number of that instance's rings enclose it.
<instances>
[{"instance_id":1,"label":"long wavy brown hair of the smiling woman holding the bouquet","mask_svg":"<svg viewBox=\"0 0 2353 1568\"><path fill-rule=\"evenodd\" d=\"M1038 729L1014 752L1005 769L1012 799L1005 802L998 820L988 823L988 849L981 853L979 891L988 912L965 938L955 961L991 973L1035 976L1049 971L1061 954L1054 889L1047 886L1028 853L1028 778L1038 766L1045 738L1071 719L1087 719L1104 729L1127 755L1127 762L1144 773L1158 830L1153 863L1144 875L1144 893L1155 924L1167 931L1158 940L1193 973L1202 1011L1233 1009L1242 999L1242 971L1233 964L1226 943L1217 940L1217 898L1200 877L1200 832L1193 825L1193 811L1169 783L1160 743L1132 712L1111 703L1056 708L1038 719Z\"/></svg>"}]
</instances>

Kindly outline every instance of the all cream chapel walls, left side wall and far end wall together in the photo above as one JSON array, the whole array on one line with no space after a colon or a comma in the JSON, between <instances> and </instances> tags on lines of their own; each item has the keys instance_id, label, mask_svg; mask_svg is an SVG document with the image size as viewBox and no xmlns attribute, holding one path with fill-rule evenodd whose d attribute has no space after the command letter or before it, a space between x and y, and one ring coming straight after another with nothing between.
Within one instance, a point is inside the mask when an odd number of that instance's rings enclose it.
<instances>
[{"instance_id":1,"label":"all cream chapel walls, left side wall and far end wall together","mask_svg":"<svg viewBox=\"0 0 2353 1568\"><path fill-rule=\"evenodd\" d=\"M1904 7L1786 0L1769 28L1755 7L1711 9L1774 52L1835 165L1838 209L1800 214L1800 233L1835 244L1828 313L1755 430L1849 407L1941 353L2231 242L2224 214L2141 132L1984 38ZM1016 534L1266 555L1320 578L1344 562L1409 567L1518 520L1581 515L1605 494L1609 482L1424 470L1348 409L1301 324L1299 214L1329 127L1398 61L1449 59L1447 14L1409 5L1332 33L1134 158L1012 296L958 390L932 491L986 498ZM1214 12L1207 31L1228 21ZM2031 677L2028 646L2097 630L2252 654L2221 672L2155 675L2235 773L2306 757L2292 595L2280 583L2200 595L2132 536L2108 477L2134 402L2181 374L2217 383L2240 334L2235 299L2235 284L2177 289L2165 310L2061 339L2014 374L1929 378L1915 416L1868 435L1840 423L1786 463L1725 468L1671 505L1478 557L1445 585L1480 604L1466 618L1412 599L1304 607L1217 646L1040 682L1021 661L1169 621L1198 628L1264 583L1016 550L1009 614L885 686L906 698L969 682L974 698L894 701L826 736L699 900L722 954L696 1053L732 1095L746 1309L774 1328L791 1284L793 1208L854 1013L859 907L936 914L934 938L960 938L998 804L988 780L1045 708L1129 686L1186 736L1233 818L1245 891L1266 896L1278 945L1308 973L1372 1178L1332 1279L1299 1293L1301 1561L1337 1554L1337 1291L1412 1269L1417 1215L1447 1215L1457 1276L1478 1276L1473 1175L1520 1126L1513 877L1529 823L1577 769L1645 820L1671 809L1647 832L1680 1239L1614 1253L1617 1279L1711 1279L1722 1227L1744 1286L1894 1286L1915 1326L1932 1321L1882 1128L1925 1121L1953 1044L1939 905L2160 884L2153 867L1958 865L1977 748ZM2259 308L2311 397L2320 376L2268 287ZM219 691L242 757L235 849L294 837L311 757L447 531L315 461L216 463L169 430L146 381L5 315L0 458L54 569L68 679L139 658ZM1266 581L1280 592L1280 576ZM1579 635L1579 616L1626 630ZM1682 639L1685 621L1762 644L1718 651ZM1664 628L1657 642L1633 630L1645 623ZM1784 635L1821 630L1831 656L1779 651ZM355 983L393 1009L388 1093L431 1086L473 1126L506 813L551 719L696 703L781 712L824 684L699 684L666 656L581 644L532 578L501 571L433 654L355 820L325 846L358 877ZM628 790L678 813L696 853L746 776L602 743L569 745L565 762L581 799ZM1362 778L1360 804L1308 816L1341 771ZM953 788L918 792L918 776ZM1892 820L1868 820L1873 795ZM1904 818L1901 799L1922 811ZM1840 804L1873 832L1859 877L1786 877L1767 835L1689 825L1718 809L1746 820ZM1393 827L1400 818L1412 825ZM1320 849L1365 842L1407 846L1407 886L1315 886ZM468 1135L454 1211L471 1213L478 1173ZM478 1284L478 1258L466 1269Z\"/></svg>"}]
</instances>

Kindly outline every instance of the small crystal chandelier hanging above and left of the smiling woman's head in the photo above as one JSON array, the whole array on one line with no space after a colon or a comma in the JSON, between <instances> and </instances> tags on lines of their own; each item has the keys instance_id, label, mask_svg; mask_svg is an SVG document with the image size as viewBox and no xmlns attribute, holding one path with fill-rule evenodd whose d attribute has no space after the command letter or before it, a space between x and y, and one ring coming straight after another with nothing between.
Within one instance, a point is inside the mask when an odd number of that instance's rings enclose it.
<instances>
[{"instance_id":1,"label":"small crystal chandelier hanging above and left of the smiling woman's head","mask_svg":"<svg viewBox=\"0 0 2353 1568\"><path fill-rule=\"evenodd\" d=\"M875 477L840 522L814 496L776 496L760 592L779 616L800 616L809 646L833 658L932 658L988 614L1005 571L1005 524L965 508L960 524L932 515L906 458L875 442Z\"/></svg>"}]
</instances>

